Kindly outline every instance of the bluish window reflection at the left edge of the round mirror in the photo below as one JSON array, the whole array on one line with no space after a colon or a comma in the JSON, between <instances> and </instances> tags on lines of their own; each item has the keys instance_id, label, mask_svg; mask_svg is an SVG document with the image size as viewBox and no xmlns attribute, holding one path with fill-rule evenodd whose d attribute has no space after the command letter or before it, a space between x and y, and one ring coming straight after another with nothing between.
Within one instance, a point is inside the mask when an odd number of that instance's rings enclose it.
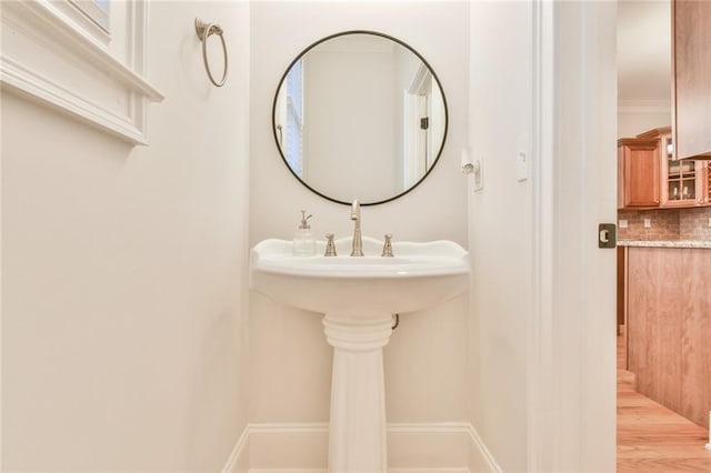
<instances>
[{"instance_id":1,"label":"bluish window reflection at the left edge of the round mirror","mask_svg":"<svg viewBox=\"0 0 711 473\"><path fill-rule=\"evenodd\" d=\"M302 168L303 63L301 60L293 63L277 97L277 140L286 154L289 168L302 178L304 169Z\"/></svg>"}]
</instances>

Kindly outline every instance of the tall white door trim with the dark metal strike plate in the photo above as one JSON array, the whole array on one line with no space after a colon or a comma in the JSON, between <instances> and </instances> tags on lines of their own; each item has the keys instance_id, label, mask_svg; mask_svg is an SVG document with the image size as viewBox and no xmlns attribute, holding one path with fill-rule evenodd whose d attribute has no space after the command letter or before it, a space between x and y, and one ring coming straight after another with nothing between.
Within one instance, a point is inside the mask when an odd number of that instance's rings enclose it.
<instances>
[{"instance_id":1,"label":"tall white door trim with the dark metal strike plate","mask_svg":"<svg viewBox=\"0 0 711 473\"><path fill-rule=\"evenodd\" d=\"M615 12L533 3L529 471L615 469Z\"/></svg>"}]
</instances>

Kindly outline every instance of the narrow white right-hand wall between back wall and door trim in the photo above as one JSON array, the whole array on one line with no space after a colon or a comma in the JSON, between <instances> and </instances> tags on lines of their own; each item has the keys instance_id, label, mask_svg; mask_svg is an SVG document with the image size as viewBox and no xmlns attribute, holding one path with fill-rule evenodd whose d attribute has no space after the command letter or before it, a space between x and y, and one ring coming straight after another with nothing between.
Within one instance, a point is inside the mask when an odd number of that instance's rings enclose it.
<instances>
[{"instance_id":1,"label":"narrow white right-hand wall between back wall and door trim","mask_svg":"<svg viewBox=\"0 0 711 473\"><path fill-rule=\"evenodd\" d=\"M531 133L531 18L528 3L471 4L470 140L484 170L483 191L469 200L472 417L502 470L517 472L527 471L532 232L530 183L517 181L514 158Z\"/></svg>"}]
</instances>

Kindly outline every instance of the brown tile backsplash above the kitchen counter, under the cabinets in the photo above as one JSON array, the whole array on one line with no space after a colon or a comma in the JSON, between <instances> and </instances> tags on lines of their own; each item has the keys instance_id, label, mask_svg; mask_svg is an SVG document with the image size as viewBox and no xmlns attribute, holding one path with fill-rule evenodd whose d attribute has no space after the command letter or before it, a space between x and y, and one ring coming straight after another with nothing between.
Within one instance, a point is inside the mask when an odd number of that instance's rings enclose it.
<instances>
[{"instance_id":1,"label":"brown tile backsplash above the kitchen counter, under the cabinets","mask_svg":"<svg viewBox=\"0 0 711 473\"><path fill-rule=\"evenodd\" d=\"M649 219L649 228L644 220ZM711 207L698 209L618 210L619 240L711 241ZM620 227L627 220L627 228Z\"/></svg>"}]
</instances>

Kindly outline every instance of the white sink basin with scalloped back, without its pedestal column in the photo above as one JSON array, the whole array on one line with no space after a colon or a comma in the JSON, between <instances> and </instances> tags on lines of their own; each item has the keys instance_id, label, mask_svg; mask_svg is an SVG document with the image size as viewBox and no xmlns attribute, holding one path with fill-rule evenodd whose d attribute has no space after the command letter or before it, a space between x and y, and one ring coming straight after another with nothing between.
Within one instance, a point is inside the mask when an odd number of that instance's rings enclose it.
<instances>
[{"instance_id":1,"label":"white sink basin with scalloped back, without its pedestal column","mask_svg":"<svg viewBox=\"0 0 711 473\"><path fill-rule=\"evenodd\" d=\"M250 286L283 304L320 313L394 314L428 309L469 288L469 253L451 241L393 242L363 236L365 256L351 258L350 238L336 241L338 256L294 256L291 241L264 240L251 252Z\"/></svg>"}]
</instances>

